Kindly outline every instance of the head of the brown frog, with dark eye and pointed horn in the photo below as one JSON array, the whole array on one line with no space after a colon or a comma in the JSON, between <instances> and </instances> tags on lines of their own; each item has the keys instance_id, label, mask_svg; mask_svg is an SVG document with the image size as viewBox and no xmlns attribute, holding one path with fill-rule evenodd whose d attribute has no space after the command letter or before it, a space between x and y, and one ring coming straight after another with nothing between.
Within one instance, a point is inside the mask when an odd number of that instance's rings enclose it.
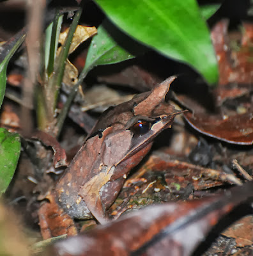
<instances>
[{"instance_id":1,"label":"head of the brown frog, with dark eye and pointed horn","mask_svg":"<svg viewBox=\"0 0 253 256\"><path fill-rule=\"evenodd\" d=\"M169 77L150 92L141 93L134 99L119 104L100 119L98 127L107 123L102 132L106 146L103 152L104 164L117 165L132 156L145 156L153 139L161 131L171 127L174 117L182 112L165 102L174 79L176 76ZM143 150L144 148L147 150ZM140 150L143 154L137 154Z\"/></svg>"}]
</instances>

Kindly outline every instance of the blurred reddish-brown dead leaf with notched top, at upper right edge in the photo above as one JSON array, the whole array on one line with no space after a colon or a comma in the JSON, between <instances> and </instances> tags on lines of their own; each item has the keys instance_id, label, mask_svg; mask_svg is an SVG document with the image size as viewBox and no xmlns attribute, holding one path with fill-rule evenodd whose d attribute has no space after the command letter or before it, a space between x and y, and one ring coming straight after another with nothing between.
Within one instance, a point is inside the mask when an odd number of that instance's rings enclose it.
<instances>
[{"instance_id":1,"label":"blurred reddish-brown dead leaf with notched top, at upper right edge","mask_svg":"<svg viewBox=\"0 0 253 256\"><path fill-rule=\"evenodd\" d=\"M253 36L252 24L243 23L243 34L238 38L241 41L236 47L233 43L236 40L230 40L228 20L219 21L211 31L211 38L218 60L219 81L218 83L229 84L251 84L253 79ZM237 38L236 38L237 39Z\"/></svg>"}]
</instances>

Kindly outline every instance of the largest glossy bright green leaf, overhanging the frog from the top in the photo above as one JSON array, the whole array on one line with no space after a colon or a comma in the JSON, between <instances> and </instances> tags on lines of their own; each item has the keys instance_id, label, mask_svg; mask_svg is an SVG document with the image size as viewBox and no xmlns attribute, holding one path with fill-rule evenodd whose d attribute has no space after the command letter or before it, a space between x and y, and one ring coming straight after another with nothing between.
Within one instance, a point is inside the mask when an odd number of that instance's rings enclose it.
<instances>
[{"instance_id":1,"label":"largest glossy bright green leaf, overhanging the frog from the top","mask_svg":"<svg viewBox=\"0 0 253 256\"><path fill-rule=\"evenodd\" d=\"M218 67L210 32L195 0L95 0L108 18L139 42L183 61L216 83Z\"/></svg>"}]
</instances>

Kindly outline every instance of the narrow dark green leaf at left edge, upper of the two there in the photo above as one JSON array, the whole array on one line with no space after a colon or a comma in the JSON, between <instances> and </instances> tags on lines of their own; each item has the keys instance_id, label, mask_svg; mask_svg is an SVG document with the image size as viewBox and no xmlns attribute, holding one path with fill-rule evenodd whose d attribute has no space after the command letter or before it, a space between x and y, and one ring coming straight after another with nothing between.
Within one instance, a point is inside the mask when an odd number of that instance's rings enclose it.
<instances>
[{"instance_id":1,"label":"narrow dark green leaf at left edge, upper of the two there","mask_svg":"<svg viewBox=\"0 0 253 256\"><path fill-rule=\"evenodd\" d=\"M25 29L22 29L15 36L11 37L3 46L0 47L0 108L3 103L6 88L6 70L11 56L24 42L26 36Z\"/></svg>"}]
</instances>

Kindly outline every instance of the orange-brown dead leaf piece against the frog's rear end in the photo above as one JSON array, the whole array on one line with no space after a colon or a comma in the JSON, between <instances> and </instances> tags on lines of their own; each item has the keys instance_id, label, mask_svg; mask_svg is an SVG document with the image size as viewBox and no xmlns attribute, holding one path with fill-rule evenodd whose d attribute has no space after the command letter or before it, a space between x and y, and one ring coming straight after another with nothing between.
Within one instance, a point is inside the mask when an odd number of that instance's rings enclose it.
<instances>
[{"instance_id":1,"label":"orange-brown dead leaf piece against the frog's rear end","mask_svg":"<svg viewBox=\"0 0 253 256\"><path fill-rule=\"evenodd\" d=\"M44 202L38 210L39 225L43 239L63 234L75 236L77 228L73 219L57 204L52 193L46 198L50 202Z\"/></svg>"}]
</instances>

